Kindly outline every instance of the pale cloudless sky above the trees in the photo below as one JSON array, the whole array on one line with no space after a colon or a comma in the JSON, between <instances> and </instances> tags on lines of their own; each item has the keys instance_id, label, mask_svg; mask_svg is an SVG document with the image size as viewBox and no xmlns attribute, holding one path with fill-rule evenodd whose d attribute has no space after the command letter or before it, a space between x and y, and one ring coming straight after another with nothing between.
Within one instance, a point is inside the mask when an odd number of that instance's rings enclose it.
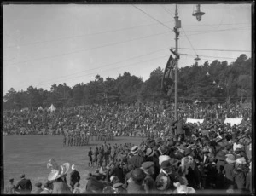
<instances>
[{"instance_id":1,"label":"pale cloudless sky above the trees","mask_svg":"<svg viewBox=\"0 0 256 196\"><path fill-rule=\"evenodd\" d=\"M227 2L228 3L228 2ZM181 20L178 67L251 57L252 6L177 4ZM3 95L10 88L49 90L124 72L149 78L175 49L175 4L3 5Z\"/></svg>"}]
</instances>

